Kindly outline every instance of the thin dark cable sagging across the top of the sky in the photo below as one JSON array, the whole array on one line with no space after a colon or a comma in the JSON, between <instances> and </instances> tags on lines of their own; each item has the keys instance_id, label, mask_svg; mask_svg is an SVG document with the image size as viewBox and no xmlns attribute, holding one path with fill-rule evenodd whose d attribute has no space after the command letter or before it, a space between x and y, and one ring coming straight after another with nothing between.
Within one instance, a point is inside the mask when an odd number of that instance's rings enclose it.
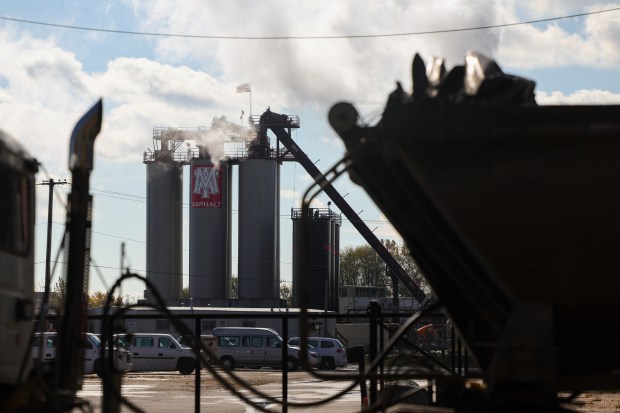
<instances>
[{"instance_id":1,"label":"thin dark cable sagging across the top of the sky","mask_svg":"<svg viewBox=\"0 0 620 413\"><path fill-rule=\"evenodd\" d=\"M34 24L39 26L56 27L62 29L71 30L84 30L91 32L103 32L113 34L126 34L132 36L154 36L154 37L180 37L189 39L211 39L211 40L333 40L333 39L370 39L381 37L405 37L405 36L421 36L430 34L445 34L445 33L459 33L469 32L477 30L489 30L498 29L502 27L514 27L536 23L546 23L558 20L573 19L577 17L592 16L595 14L610 13L619 11L620 7L614 7L611 9L594 10L584 13L569 14L565 16L548 17L544 19L525 20L513 23L492 24L485 26L473 26L463 27L456 29L440 29L440 30L425 30L418 32L403 32L403 33L383 33L383 34L350 34L350 35L325 35L325 36L222 36L222 35L201 35L201 34L182 34L182 33L159 33L159 32L139 32L132 30L117 30L117 29L103 29L98 27L87 26L73 26L67 24L49 23L36 20L18 19L15 17L0 16L0 20L11 21L15 23Z\"/></svg>"}]
</instances>

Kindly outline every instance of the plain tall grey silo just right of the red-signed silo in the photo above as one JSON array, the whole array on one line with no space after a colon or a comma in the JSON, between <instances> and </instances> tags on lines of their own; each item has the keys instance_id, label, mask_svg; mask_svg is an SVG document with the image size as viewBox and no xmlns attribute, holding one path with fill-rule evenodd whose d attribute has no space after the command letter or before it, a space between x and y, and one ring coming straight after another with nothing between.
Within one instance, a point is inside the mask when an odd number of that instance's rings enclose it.
<instances>
[{"instance_id":1,"label":"plain tall grey silo just right of the red-signed silo","mask_svg":"<svg viewBox=\"0 0 620 413\"><path fill-rule=\"evenodd\" d=\"M279 164L239 164L239 299L279 299Z\"/></svg>"}]
</instances>

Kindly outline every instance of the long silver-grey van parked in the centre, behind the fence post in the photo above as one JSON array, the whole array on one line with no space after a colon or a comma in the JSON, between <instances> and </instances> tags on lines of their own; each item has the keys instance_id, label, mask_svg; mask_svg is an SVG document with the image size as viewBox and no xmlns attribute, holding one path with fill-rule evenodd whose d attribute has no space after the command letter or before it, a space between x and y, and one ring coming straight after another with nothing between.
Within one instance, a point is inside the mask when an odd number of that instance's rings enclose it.
<instances>
[{"instance_id":1,"label":"long silver-grey van parked in the centre, behind the fence post","mask_svg":"<svg viewBox=\"0 0 620 413\"><path fill-rule=\"evenodd\" d=\"M261 327L216 327L217 354L222 367L281 367L282 337L275 330ZM287 345L287 369L297 370L301 349ZM316 353L308 353L308 364L319 363Z\"/></svg>"}]
</instances>

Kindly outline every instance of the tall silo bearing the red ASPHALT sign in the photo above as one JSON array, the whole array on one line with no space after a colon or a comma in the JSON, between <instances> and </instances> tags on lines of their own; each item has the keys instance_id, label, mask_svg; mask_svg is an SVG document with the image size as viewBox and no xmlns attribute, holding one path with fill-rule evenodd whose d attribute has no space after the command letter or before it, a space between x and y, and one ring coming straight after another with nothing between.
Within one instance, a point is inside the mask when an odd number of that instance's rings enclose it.
<instances>
[{"instance_id":1,"label":"tall silo bearing the red ASPHALT sign","mask_svg":"<svg viewBox=\"0 0 620 413\"><path fill-rule=\"evenodd\" d=\"M229 162L215 165L204 151L190 162L189 293L195 305L230 295L231 173Z\"/></svg>"}]
</instances>

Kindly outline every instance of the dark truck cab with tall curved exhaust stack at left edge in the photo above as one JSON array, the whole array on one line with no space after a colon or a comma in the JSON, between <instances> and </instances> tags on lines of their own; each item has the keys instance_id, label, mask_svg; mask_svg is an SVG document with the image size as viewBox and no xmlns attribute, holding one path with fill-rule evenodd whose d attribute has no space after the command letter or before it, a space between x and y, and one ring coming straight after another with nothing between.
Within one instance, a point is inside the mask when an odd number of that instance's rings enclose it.
<instances>
[{"instance_id":1,"label":"dark truck cab with tall curved exhaust stack at left edge","mask_svg":"<svg viewBox=\"0 0 620 413\"><path fill-rule=\"evenodd\" d=\"M34 333L46 331L50 310L47 273L41 308L34 314L34 178L39 163L17 141L0 133L0 171L6 181L0 190L2 413L87 410L88 404L77 397L77 391L82 387L84 369L83 332L86 331L92 217L90 174L102 116L103 104L99 100L82 116L71 134L69 169L72 182L64 240L64 311L54 320L59 330L58 353L51 362L44 362L42 350L34 359L32 352ZM42 349L43 345L37 347Z\"/></svg>"}]
</instances>

